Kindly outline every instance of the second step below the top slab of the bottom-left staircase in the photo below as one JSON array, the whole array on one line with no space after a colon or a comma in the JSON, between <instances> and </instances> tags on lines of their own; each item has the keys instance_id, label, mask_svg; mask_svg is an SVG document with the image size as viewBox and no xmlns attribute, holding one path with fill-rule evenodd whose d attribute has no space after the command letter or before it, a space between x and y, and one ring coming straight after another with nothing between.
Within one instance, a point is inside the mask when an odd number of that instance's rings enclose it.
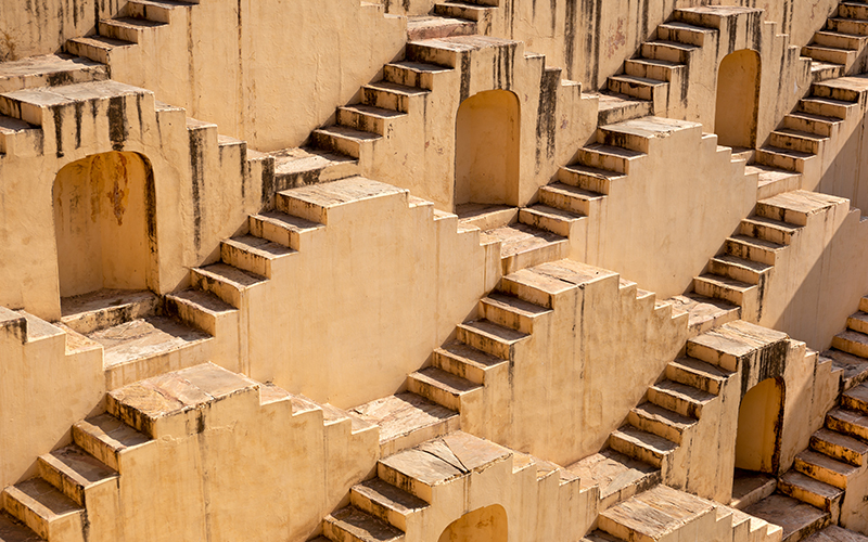
<instances>
[{"instance_id":1,"label":"second step below the top slab of the bottom-left staircase","mask_svg":"<svg viewBox=\"0 0 868 542\"><path fill-rule=\"evenodd\" d=\"M86 494L103 483L117 483L118 474L77 444L40 455L39 476L85 506Z\"/></svg>"}]
</instances>

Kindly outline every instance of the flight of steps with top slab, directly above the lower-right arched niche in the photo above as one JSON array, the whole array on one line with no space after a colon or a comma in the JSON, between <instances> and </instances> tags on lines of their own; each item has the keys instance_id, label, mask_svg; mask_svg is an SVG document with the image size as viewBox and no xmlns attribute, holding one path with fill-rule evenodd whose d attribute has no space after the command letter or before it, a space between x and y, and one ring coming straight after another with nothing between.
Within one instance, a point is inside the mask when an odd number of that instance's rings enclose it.
<instances>
[{"instance_id":1,"label":"flight of steps with top slab, directly above the lower-right arched niche","mask_svg":"<svg viewBox=\"0 0 868 542\"><path fill-rule=\"evenodd\" d=\"M842 205L848 202L800 190L757 202L756 214L742 220L739 232L726 240L724 251L693 280L693 291L737 305L742 319L760 322L776 260L802 235L812 216Z\"/></svg>"}]
</instances>

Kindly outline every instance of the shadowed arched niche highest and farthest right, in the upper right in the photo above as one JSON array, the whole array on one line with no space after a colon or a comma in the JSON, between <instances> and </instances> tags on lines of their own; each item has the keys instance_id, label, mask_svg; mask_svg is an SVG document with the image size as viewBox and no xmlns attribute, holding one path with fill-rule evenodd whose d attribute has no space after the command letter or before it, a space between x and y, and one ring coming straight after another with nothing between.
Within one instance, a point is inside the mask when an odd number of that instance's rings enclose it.
<instances>
[{"instance_id":1,"label":"shadowed arched niche highest and farthest right, in the upper right","mask_svg":"<svg viewBox=\"0 0 868 542\"><path fill-rule=\"evenodd\" d=\"M720 61L714 132L717 143L731 147L756 146L760 107L760 54L742 49Z\"/></svg>"}]
</instances>

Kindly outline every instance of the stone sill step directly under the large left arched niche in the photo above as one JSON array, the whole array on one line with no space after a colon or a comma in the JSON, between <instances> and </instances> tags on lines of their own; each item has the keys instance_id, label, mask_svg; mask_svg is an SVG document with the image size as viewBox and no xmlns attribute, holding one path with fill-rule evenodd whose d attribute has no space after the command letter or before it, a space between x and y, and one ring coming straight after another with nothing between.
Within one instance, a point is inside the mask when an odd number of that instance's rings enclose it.
<instances>
[{"instance_id":1,"label":"stone sill step directly under the large left arched niche","mask_svg":"<svg viewBox=\"0 0 868 542\"><path fill-rule=\"evenodd\" d=\"M87 335L153 315L159 298L150 291L99 289L61 298L61 323Z\"/></svg>"}]
</instances>

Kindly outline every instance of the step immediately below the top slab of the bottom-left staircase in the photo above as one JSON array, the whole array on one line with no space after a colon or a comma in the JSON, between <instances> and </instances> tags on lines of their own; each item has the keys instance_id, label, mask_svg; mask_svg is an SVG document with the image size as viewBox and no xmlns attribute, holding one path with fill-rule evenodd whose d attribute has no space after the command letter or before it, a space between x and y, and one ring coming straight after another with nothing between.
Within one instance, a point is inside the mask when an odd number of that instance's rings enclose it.
<instances>
[{"instance_id":1,"label":"step immediately below the top slab of the bottom-left staircase","mask_svg":"<svg viewBox=\"0 0 868 542\"><path fill-rule=\"evenodd\" d=\"M73 425L73 440L108 468L123 472L124 455L154 443L111 414L100 414Z\"/></svg>"}]
</instances>

